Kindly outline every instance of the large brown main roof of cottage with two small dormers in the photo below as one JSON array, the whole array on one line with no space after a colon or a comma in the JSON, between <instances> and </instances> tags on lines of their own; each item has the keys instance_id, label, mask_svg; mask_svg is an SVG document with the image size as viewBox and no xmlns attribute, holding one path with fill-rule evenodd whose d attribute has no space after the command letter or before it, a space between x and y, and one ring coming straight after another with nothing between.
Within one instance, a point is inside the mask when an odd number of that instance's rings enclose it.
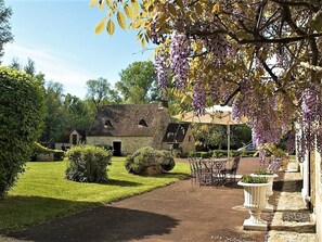
<instances>
[{"instance_id":1,"label":"large brown main roof of cottage with two small dormers","mask_svg":"<svg viewBox=\"0 0 322 242\"><path fill-rule=\"evenodd\" d=\"M99 109L88 136L153 137L167 109L158 103L115 104Z\"/></svg>"}]
</instances>

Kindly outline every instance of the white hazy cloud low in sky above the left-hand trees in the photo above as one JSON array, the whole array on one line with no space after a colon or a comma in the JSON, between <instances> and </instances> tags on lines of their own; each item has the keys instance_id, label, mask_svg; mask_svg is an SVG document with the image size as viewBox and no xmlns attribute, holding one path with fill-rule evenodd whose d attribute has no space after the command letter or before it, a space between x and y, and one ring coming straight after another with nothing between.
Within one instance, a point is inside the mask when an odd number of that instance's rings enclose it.
<instances>
[{"instance_id":1,"label":"white hazy cloud low in sky above the left-hand trees","mask_svg":"<svg viewBox=\"0 0 322 242\"><path fill-rule=\"evenodd\" d=\"M5 44L3 65L9 65L16 58L25 65L28 58L35 61L36 71L44 74L47 80L61 82L65 87L65 92L85 98L86 81L96 78L96 74L88 73L81 67L68 62L68 56L54 53L50 50L33 49L16 43ZM70 60L70 59L69 59Z\"/></svg>"}]
</instances>

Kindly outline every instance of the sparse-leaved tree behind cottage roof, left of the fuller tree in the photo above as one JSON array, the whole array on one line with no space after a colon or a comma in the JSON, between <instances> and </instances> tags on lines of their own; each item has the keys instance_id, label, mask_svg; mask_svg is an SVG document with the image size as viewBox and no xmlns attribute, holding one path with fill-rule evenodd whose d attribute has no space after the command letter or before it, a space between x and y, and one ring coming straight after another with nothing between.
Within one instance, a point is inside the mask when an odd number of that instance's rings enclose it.
<instances>
[{"instance_id":1,"label":"sparse-leaved tree behind cottage roof, left of the fuller tree","mask_svg":"<svg viewBox=\"0 0 322 242\"><path fill-rule=\"evenodd\" d=\"M94 104L96 110L102 104L120 102L117 91L111 88L111 84L107 81L107 79L100 77L95 80L88 80L86 86L86 97Z\"/></svg>"}]
</instances>

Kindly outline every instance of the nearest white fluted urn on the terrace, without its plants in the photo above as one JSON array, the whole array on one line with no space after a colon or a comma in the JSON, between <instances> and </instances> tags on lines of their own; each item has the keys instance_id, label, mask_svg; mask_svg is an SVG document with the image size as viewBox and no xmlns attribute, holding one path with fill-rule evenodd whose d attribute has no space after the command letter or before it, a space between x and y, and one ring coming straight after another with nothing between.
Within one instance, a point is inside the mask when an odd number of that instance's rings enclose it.
<instances>
[{"instance_id":1,"label":"nearest white fluted urn on the terrace, without its plants","mask_svg":"<svg viewBox=\"0 0 322 242\"><path fill-rule=\"evenodd\" d=\"M245 230L267 230L267 221L260 218L261 211L266 206L266 191L270 183L245 183L237 182L244 187L244 206L249 211L249 218L244 220Z\"/></svg>"}]
</instances>

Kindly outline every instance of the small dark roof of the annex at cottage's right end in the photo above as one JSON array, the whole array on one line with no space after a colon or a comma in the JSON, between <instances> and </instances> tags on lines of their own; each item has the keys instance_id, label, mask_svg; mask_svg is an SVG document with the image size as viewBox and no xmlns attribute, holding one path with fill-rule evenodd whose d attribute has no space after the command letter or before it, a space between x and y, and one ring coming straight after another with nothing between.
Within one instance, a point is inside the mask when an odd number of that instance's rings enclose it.
<instances>
[{"instance_id":1,"label":"small dark roof of the annex at cottage's right end","mask_svg":"<svg viewBox=\"0 0 322 242\"><path fill-rule=\"evenodd\" d=\"M167 131L163 142L167 142L167 143L183 142L188 128L189 128L189 124L170 123L167 127Z\"/></svg>"}]
</instances>

